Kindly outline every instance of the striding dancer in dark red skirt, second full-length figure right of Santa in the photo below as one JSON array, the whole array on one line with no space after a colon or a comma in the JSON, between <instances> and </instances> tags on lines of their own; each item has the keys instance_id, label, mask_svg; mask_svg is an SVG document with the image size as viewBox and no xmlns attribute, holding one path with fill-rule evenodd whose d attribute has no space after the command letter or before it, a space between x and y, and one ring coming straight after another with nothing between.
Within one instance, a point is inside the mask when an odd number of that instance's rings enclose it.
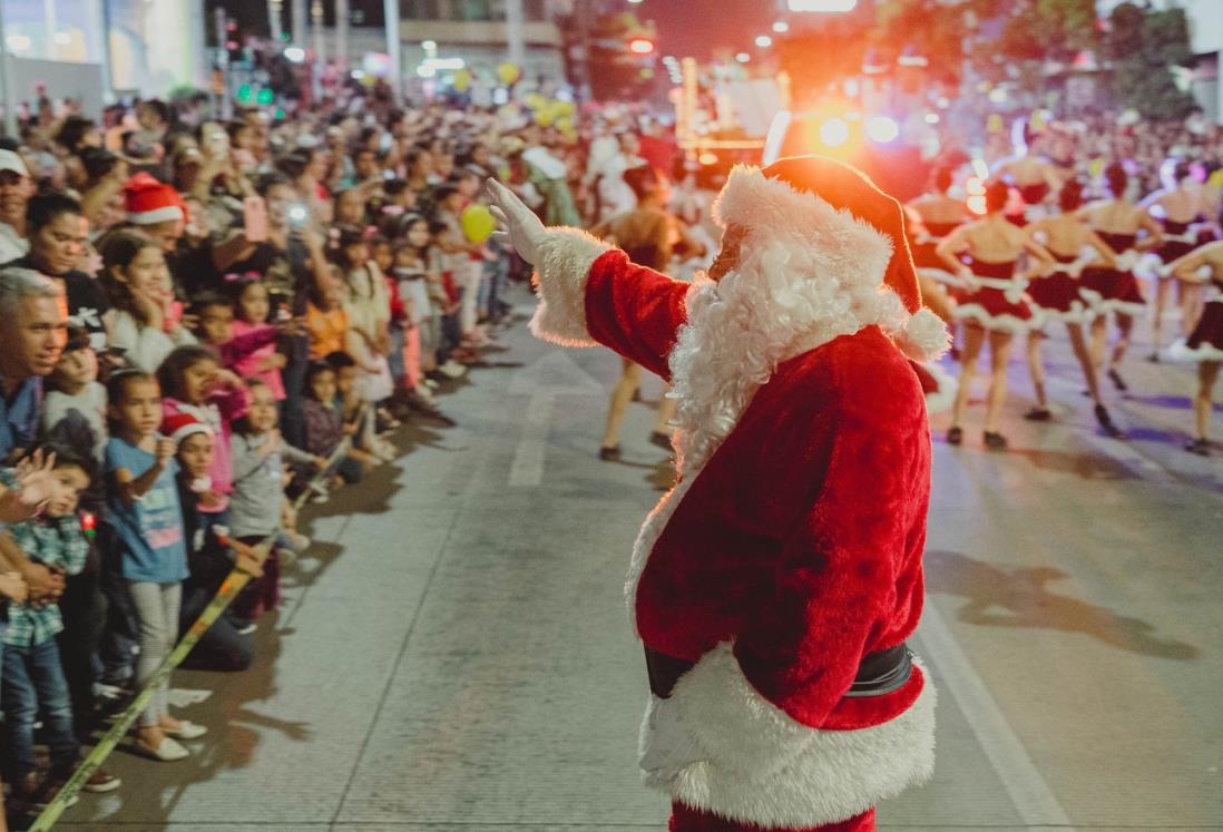
<instances>
[{"instance_id":1,"label":"striding dancer in dark red skirt, second full-length figure right of Santa","mask_svg":"<svg viewBox=\"0 0 1223 832\"><path fill-rule=\"evenodd\" d=\"M1087 382L1087 393L1096 405L1096 421L1099 422L1106 433L1120 438L1121 432L1113 425L1108 409L1101 400L1096 366L1091 360L1087 340L1084 338L1082 325L1095 317L1095 312L1084 297L1080 280L1080 269L1086 264L1085 261L1080 259L1080 253L1085 248L1092 250L1095 252L1092 259L1103 261L1103 266L1109 269L1115 270L1117 257L1099 235L1074 213L1081 204L1082 185L1071 179L1062 186L1062 191L1058 193L1058 206L1062 208L1062 213L1038 219L1027 226L1027 232L1044 246L1058 266L1044 274L1033 275L1032 284L1027 288L1027 295L1036 306L1037 321L1037 324L1027 332L1027 368L1036 393L1036 406L1025 415L1025 418L1033 422L1047 422L1053 417L1044 394L1041 341L1044 340L1044 327L1048 322L1060 321L1066 327L1070 346L1074 349L1079 366L1082 368L1084 379Z\"/></svg>"}]
</instances>

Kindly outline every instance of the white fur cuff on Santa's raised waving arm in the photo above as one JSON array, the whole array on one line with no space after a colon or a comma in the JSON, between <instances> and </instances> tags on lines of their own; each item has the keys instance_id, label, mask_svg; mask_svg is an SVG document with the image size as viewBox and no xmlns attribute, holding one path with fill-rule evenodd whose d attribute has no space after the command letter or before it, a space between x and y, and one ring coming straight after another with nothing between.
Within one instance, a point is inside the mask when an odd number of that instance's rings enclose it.
<instances>
[{"instance_id":1,"label":"white fur cuff on Santa's raised waving arm","mask_svg":"<svg viewBox=\"0 0 1223 832\"><path fill-rule=\"evenodd\" d=\"M610 247L586 231L548 229L536 267L539 306L530 324L536 338L561 346L596 345L586 329L586 279Z\"/></svg>"}]
</instances>

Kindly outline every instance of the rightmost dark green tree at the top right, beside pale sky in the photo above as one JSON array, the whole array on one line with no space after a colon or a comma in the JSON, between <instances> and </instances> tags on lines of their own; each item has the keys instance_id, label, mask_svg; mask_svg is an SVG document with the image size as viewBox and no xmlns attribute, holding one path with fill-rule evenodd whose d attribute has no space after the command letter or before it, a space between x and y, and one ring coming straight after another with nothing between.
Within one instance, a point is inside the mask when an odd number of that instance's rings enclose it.
<instances>
[{"instance_id":1,"label":"rightmost dark green tree at the top right, beside pale sky","mask_svg":"<svg viewBox=\"0 0 1223 832\"><path fill-rule=\"evenodd\" d=\"M1177 87L1172 72L1192 60L1184 10L1123 2L1108 18L1104 56L1119 105L1157 120L1184 119L1192 110L1194 98Z\"/></svg>"}]
</instances>

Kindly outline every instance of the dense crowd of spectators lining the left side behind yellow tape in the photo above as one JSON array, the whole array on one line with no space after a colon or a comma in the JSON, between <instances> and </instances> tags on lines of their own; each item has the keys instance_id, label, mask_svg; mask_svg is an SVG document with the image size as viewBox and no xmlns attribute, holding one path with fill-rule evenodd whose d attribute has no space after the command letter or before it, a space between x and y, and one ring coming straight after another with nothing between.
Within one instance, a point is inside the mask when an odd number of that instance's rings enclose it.
<instances>
[{"instance_id":1,"label":"dense crowd of spectators lining the left side behind yellow tape","mask_svg":"<svg viewBox=\"0 0 1223 832\"><path fill-rule=\"evenodd\" d=\"M187 661L251 666L281 570L311 546L295 507L394 460L404 421L461 421L437 393L515 319L506 288L528 272L489 236L484 180L593 224L624 198L632 122L578 135L526 108L396 108L355 87L279 120L45 110L0 139L10 809L54 799L234 568L251 582ZM128 748L180 760L205 730L163 685ZM119 787L103 768L86 790Z\"/></svg>"}]
</instances>

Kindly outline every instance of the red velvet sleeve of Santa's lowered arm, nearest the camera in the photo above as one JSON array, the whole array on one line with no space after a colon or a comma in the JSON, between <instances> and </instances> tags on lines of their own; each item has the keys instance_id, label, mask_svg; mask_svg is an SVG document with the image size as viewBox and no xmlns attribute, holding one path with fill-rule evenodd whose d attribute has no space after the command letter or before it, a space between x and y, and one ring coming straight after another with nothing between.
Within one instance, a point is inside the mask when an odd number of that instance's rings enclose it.
<instances>
[{"instance_id":1,"label":"red velvet sleeve of Santa's lowered arm, nearest the camera","mask_svg":"<svg viewBox=\"0 0 1223 832\"><path fill-rule=\"evenodd\" d=\"M861 657L894 646L921 612L925 406L911 378L905 387L857 370L852 392L843 382L828 394L834 438L823 482L783 542L772 597L735 641L751 685L812 727L826 723Z\"/></svg>"}]
</instances>

